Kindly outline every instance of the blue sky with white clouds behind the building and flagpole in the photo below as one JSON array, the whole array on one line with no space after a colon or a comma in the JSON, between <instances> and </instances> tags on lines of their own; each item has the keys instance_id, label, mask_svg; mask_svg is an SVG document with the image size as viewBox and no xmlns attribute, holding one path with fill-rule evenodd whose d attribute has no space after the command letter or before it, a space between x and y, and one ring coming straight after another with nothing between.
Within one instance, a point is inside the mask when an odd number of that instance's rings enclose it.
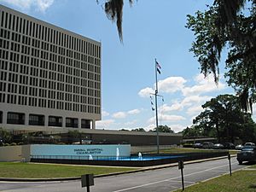
<instances>
[{"instance_id":1,"label":"blue sky with white clouds behind the building and flagpole","mask_svg":"<svg viewBox=\"0 0 256 192\"><path fill-rule=\"evenodd\" d=\"M234 93L221 78L204 79L189 48L193 33L186 15L207 9L206 0L125 1L124 43L100 0L0 0L9 8L102 42L102 121L96 129L146 130L155 126L149 94L154 93L154 59L160 63L159 123L174 131L192 125L201 105L214 96ZM223 59L224 61L224 59ZM224 62L220 72L224 73Z\"/></svg>"}]
</instances>

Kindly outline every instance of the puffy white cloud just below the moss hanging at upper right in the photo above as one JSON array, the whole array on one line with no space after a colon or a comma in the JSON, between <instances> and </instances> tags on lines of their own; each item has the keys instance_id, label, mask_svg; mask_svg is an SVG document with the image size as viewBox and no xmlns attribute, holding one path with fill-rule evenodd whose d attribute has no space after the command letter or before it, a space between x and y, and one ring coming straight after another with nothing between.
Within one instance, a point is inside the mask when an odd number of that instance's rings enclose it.
<instances>
[{"instance_id":1,"label":"puffy white cloud just below the moss hanging at upper right","mask_svg":"<svg viewBox=\"0 0 256 192\"><path fill-rule=\"evenodd\" d=\"M205 79L203 74L199 74L195 77L195 83L196 85L192 87L183 88L183 96L200 95L201 93L212 92L215 90L223 90L225 88L225 84L220 81L218 82L218 84L215 84L212 75Z\"/></svg>"}]
</instances>

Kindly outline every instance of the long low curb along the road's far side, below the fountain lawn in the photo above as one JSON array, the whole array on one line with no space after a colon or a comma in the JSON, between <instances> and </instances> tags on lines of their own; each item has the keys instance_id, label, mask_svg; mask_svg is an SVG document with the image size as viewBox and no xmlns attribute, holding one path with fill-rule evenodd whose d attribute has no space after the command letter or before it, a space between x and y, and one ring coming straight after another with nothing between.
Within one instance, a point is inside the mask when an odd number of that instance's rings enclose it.
<instances>
[{"instance_id":1,"label":"long low curb along the road's far side, below the fountain lawn","mask_svg":"<svg viewBox=\"0 0 256 192\"><path fill-rule=\"evenodd\" d=\"M231 157L236 157L236 154L232 154ZM210 160L221 160L226 159L226 156L221 157L215 157L215 158L209 158L204 160L190 160L190 161L184 161L184 165L194 164L194 163L201 163L206 162ZM102 175L96 175L96 177L109 177L109 176L117 176L122 174L129 174L129 173L135 173L135 172L146 172L150 170L157 170L157 169L164 169L168 167L177 166L177 163L172 164L166 164L163 166L148 166L146 168L141 168L134 171L128 171L128 172L113 172L108 174L102 174ZM0 177L0 181L7 181L7 182L53 182L53 181L71 181L71 180L79 180L81 177L54 177L54 178L17 178L17 177Z\"/></svg>"}]
</instances>

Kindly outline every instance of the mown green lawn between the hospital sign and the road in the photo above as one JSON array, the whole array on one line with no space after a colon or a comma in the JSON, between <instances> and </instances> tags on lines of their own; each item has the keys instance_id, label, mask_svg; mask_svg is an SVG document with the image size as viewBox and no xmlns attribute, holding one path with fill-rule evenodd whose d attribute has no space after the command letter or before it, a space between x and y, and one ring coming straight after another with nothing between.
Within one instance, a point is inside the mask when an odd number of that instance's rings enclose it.
<instances>
[{"instance_id":1,"label":"mown green lawn between the hospital sign and the road","mask_svg":"<svg viewBox=\"0 0 256 192\"><path fill-rule=\"evenodd\" d=\"M94 175L100 175L111 172L125 172L131 170L135 170L135 168L0 162L0 177L79 177L81 175L90 173L93 173Z\"/></svg>"}]
</instances>

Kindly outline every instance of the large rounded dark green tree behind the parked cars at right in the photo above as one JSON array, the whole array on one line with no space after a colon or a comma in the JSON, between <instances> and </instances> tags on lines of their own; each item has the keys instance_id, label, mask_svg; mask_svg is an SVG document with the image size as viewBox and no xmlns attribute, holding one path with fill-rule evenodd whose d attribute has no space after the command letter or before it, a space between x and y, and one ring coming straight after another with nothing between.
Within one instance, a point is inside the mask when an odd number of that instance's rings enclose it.
<instances>
[{"instance_id":1,"label":"large rounded dark green tree behind the parked cars at right","mask_svg":"<svg viewBox=\"0 0 256 192\"><path fill-rule=\"evenodd\" d=\"M239 98L232 95L219 95L202 105L204 111L195 117L193 123L201 126L204 136L218 137L234 143L241 137L242 129L253 119L249 113L241 111Z\"/></svg>"}]
</instances>

